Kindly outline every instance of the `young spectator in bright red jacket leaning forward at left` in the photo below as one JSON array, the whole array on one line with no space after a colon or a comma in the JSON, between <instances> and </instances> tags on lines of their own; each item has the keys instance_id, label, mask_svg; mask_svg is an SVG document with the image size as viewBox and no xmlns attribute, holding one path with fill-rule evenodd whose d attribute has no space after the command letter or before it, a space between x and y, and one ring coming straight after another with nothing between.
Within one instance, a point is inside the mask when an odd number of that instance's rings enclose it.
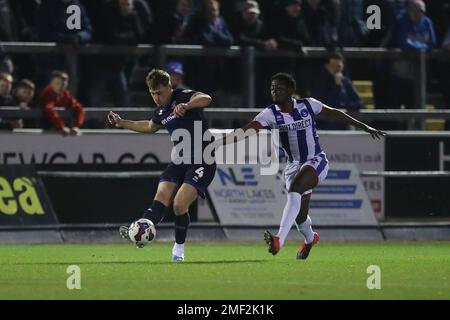
<instances>
[{"instance_id":1,"label":"young spectator in bright red jacket leaning forward at left","mask_svg":"<svg viewBox=\"0 0 450 320\"><path fill-rule=\"evenodd\" d=\"M67 90L69 76L62 71L53 71L50 84L47 85L39 96L39 105L44 109L50 123L64 136L80 135L80 128L84 122L85 111L83 106ZM55 110L57 107L71 109L75 116L75 124L68 126Z\"/></svg>"}]
</instances>

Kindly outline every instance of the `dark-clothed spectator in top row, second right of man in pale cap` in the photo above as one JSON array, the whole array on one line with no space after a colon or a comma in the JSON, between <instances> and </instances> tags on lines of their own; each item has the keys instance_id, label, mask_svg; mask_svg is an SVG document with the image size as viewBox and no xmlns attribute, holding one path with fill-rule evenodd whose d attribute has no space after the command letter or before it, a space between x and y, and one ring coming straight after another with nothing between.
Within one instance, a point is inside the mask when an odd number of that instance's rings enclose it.
<instances>
[{"instance_id":1,"label":"dark-clothed spectator in top row, second right of man in pale cap","mask_svg":"<svg viewBox=\"0 0 450 320\"><path fill-rule=\"evenodd\" d=\"M302 15L308 33L308 45L335 47L338 43L337 8L326 0L303 0Z\"/></svg>"}]
</instances>

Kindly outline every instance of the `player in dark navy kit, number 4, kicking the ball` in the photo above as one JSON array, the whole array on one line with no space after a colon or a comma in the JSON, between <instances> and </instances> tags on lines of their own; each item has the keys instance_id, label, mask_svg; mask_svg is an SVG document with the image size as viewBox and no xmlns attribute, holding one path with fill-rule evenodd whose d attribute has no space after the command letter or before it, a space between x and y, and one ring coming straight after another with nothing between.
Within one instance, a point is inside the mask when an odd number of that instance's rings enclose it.
<instances>
[{"instance_id":1,"label":"player in dark navy kit, number 4, kicking the ball","mask_svg":"<svg viewBox=\"0 0 450 320\"><path fill-rule=\"evenodd\" d=\"M204 142L202 139L203 133L208 129L203 121L202 108L209 106L212 99L202 92L173 90L170 76L163 70L152 70L148 74L146 82L157 105L152 119L125 120L111 111L108 114L108 120L116 127L141 133L155 133L164 127L169 131L175 146L177 139L174 136L178 136L180 132L176 133L178 129L190 134L191 150L182 149L180 153L175 153L180 157L175 161L172 157L172 162L161 175L153 204L144 213L144 218L151 220L156 226L164 218L166 208L173 203L175 244L172 249L172 260L184 261L184 243L190 222L188 208L199 195L202 198L205 197L206 188L213 180L216 171L215 162L204 161L202 153L211 142ZM199 126L201 137L194 135ZM199 139L200 141L197 141ZM197 160L198 152L195 156L194 151L198 151L195 146L201 146L200 161ZM181 158L183 161L180 161ZM121 227L120 234L123 238L128 238L128 228Z\"/></svg>"}]
</instances>

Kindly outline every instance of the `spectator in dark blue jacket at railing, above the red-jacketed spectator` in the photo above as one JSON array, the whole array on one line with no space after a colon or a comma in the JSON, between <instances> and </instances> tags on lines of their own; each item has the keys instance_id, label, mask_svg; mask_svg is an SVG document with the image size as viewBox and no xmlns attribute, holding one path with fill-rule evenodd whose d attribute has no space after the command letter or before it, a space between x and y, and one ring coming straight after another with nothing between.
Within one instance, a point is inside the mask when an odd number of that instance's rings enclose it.
<instances>
[{"instance_id":1,"label":"spectator in dark blue jacket at railing, above the red-jacketed spectator","mask_svg":"<svg viewBox=\"0 0 450 320\"><path fill-rule=\"evenodd\" d=\"M76 5L80 8L81 29L67 27L67 8ZM92 27L86 10L79 0L42 0L37 9L36 31L38 41L62 44L84 45L92 39ZM52 70L69 69L63 55L45 54L36 58L37 81L45 84L51 77Z\"/></svg>"}]
</instances>

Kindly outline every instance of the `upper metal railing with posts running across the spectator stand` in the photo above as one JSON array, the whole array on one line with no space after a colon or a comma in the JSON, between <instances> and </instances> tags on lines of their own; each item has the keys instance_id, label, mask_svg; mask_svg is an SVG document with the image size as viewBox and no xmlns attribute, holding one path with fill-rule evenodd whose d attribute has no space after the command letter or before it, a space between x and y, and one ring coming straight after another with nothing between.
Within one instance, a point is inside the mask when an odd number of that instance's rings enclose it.
<instances>
[{"instance_id":1,"label":"upper metal railing with posts running across the spectator stand","mask_svg":"<svg viewBox=\"0 0 450 320\"><path fill-rule=\"evenodd\" d=\"M225 48L203 47L200 45L151 45L139 44L136 46L105 46L105 45L59 45L54 42L0 42L8 54L62 54L66 57L68 70L71 77L70 90L76 95L78 76L78 64L80 55L150 55L154 58L155 66L165 65L168 56L177 57L240 57L242 63L242 93L243 105L255 106L255 60L262 58L289 58L310 59L323 58L328 50L323 47L305 47L306 54L300 55L295 51L276 50L264 52L254 47L230 46ZM426 61L427 59L442 60L449 58L450 53L442 50L414 50L402 51L400 49L384 48L350 48L342 49L346 58L351 59L408 59L414 62L414 101L417 109L424 108L426 101Z\"/></svg>"}]
</instances>

